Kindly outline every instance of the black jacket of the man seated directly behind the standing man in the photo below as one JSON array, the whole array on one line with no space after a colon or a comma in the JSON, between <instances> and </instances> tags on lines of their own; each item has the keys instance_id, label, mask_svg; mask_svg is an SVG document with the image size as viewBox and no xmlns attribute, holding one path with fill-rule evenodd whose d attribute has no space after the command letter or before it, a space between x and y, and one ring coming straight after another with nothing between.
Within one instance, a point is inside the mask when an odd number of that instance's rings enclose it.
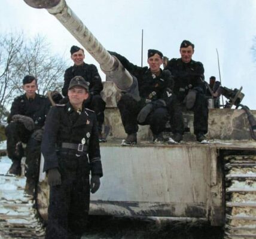
<instances>
[{"instance_id":1,"label":"black jacket of the man seated directly behind the standing man","mask_svg":"<svg viewBox=\"0 0 256 239\"><path fill-rule=\"evenodd\" d=\"M66 69L65 75L64 75L64 85L62 88L62 94L63 96L68 95L68 87L69 82L72 78L75 76L83 76L83 78L90 82L89 85L89 91L90 94L100 94L100 91L103 89L102 81L99 75L99 72L97 71L97 68L93 64L86 64L84 63L81 66L71 66L70 68Z\"/></svg>"}]
</instances>

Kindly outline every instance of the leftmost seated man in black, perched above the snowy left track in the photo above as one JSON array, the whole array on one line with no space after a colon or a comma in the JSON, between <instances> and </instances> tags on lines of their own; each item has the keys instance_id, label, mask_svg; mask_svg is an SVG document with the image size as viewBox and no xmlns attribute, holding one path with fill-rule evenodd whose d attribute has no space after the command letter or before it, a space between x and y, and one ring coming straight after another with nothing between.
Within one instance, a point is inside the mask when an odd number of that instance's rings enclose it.
<instances>
[{"instance_id":1,"label":"leftmost seated man in black, perched above the snowy left track","mask_svg":"<svg viewBox=\"0 0 256 239\"><path fill-rule=\"evenodd\" d=\"M9 173L21 173L20 161L26 156L26 176L36 180L39 169L40 144L45 117L50 109L50 101L46 96L36 93L36 78L26 75L23 79L25 94L14 99L5 128L7 136L8 157L13 161ZM24 149L24 145L26 148Z\"/></svg>"}]
</instances>

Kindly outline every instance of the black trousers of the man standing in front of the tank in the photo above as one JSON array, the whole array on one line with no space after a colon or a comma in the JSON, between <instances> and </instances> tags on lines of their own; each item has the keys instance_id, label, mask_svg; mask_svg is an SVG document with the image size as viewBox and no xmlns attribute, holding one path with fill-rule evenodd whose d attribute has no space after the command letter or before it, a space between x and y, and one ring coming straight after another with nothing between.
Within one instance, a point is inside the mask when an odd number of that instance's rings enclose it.
<instances>
[{"instance_id":1,"label":"black trousers of the man standing in front of the tank","mask_svg":"<svg viewBox=\"0 0 256 239\"><path fill-rule=\"evenodd\" d=\"M45 239L81 238L90 204L89 163L86 156L60 157L62 184L50 187Z\"/></svg>"}]
</instances>

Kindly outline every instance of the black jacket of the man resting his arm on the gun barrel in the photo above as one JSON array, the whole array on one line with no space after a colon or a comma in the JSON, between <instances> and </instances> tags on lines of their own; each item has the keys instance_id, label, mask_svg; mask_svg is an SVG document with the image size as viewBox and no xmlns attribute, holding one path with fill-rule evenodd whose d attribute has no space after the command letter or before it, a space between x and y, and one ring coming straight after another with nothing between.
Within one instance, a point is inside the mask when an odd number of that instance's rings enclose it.
<instances>
[{"instance_id":1,"label":"black jacket of the man resting his arm on the gun barrel","mask_svg":"<svg viewBox=\"0 0 256 239\"><path fill-rule=\"evenodd\" d=\"M127 69L132 75L134 75L138 80L139 86L139 96L144 99L157 100L163 99L166 100L170 97L172 88L173 88L173 77L170 71L161 70L159 76L151 73L150 69L145 67L139 67L133 65L125 57L121 56L118 53L109 51L109 53L122 63L124 68Z\"/></svg>"}]
</instances>

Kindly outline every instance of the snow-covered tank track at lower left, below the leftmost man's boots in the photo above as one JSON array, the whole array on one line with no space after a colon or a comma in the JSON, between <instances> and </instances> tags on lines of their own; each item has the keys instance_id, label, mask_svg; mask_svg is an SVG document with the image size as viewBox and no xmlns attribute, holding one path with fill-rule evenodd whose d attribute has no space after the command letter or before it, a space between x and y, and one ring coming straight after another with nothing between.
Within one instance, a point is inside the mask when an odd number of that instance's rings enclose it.
<instances>
[{"instance_id":1,"label":"snow-covered tank track at lower left, below the leftmost man's boots","mask_svg":"<svg viewBox=\"0 0 256 239\"><path fill-rule=\"evenodd\" d=\"M35 200L25 188L26 177L0 174L0 238L44 238Z\"/></svg>"}]
</instances>

